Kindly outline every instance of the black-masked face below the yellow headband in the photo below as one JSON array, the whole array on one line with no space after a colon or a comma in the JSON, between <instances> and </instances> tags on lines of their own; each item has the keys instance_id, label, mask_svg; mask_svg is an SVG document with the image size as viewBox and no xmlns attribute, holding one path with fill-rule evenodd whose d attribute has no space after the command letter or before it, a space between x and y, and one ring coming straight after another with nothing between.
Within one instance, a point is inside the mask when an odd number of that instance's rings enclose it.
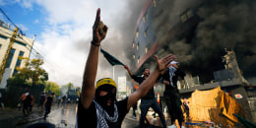
<instances>
[{"instance_id":1,"label":"black-masked face below the yellow headband","mask_svg":"<svg viewBox=\"0 0 256 128\"><path fill-rule=\"evenodd\" d=\"M113 109L113 104L116 96L116 89L112 86L105 86L99 89L96 93L96 101L105 109Z\"/></svg>"}]
</instances>

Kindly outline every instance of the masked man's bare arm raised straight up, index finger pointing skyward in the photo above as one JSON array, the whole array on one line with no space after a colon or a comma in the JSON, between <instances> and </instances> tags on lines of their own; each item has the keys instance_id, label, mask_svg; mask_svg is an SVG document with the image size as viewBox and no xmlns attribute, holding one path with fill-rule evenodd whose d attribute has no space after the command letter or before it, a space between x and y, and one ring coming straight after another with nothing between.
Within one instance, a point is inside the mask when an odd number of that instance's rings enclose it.
<instances>
[{"instance_id":1,"label":"masked man's bare arm raised straight up, index finger pointing skyward","mask_svg":"<svg viewBox=\"0 0 256 128\"><path fill-rule=\"evenodd\" d=\"M102 39L104 39L107 32L107 27L100 22L100 9L96 12L96 22L93 27L93 40L91 42L91 48L89 51L81 93L81 102L87 109L94 100L96 94L95 81L96 70L98 61L99 45Z\"/></svg>"}]
</instances>

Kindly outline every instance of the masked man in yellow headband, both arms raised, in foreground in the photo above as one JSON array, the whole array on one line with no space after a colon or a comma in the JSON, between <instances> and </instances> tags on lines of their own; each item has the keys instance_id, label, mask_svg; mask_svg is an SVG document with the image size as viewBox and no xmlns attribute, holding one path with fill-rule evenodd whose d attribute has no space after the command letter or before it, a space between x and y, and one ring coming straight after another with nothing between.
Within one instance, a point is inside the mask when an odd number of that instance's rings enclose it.
<instances>
[{"instance_id":1,"label":"masked man in yellow headband, both arms raised, in foreground","mask_svg":"<svg viewBox=\"0 0 256 128\"><path fill-rule=\"evenodd\" d=\"M130 107L149 93L160 72L164 72L174 59L171 54L161 59L155 56L157 64L149 78L136 92L117 101L115 98L116 84L112 79L100 79L95 85L99 46L107 32L107 27L102 24L100 9L98 9L78 103L76 128L120 128Z\"/></svg>"}]
</instances>

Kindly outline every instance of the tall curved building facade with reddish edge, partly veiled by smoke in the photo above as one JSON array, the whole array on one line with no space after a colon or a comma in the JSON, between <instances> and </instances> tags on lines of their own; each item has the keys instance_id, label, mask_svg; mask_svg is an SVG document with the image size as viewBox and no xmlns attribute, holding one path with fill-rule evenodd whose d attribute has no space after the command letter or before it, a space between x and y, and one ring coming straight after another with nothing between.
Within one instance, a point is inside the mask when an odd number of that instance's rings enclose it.
<instances>
[{"instance_id":1,"label":"tall curved building facade with reddish edge, partly veiled by smoke","mask_svg":"<svg viewBox=\"0 0 256 128\"><path fill-rule=\"evenodd\" d=\"M167 4L166 0L149 0L142 9L132 42L132 66L136 71L155 63L155 54L162 57L173 53L172 43L191 36L200 21L192 9L171 16L173 21L169 21Z\"/></svg>"}]
</instances>

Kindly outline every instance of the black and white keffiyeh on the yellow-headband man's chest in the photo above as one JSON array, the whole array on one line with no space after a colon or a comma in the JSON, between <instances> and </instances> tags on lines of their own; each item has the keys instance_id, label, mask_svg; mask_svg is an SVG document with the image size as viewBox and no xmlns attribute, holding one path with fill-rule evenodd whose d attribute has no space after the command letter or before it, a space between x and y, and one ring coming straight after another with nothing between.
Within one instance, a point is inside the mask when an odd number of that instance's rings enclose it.
<instances>
[{"instance_id":1,"label":"black and white keffiyeh on the yellow-headband man's chest","mask_svg":"<svg viewBox=\"0 0 256 128\"><path fill-rule=\"evenodd\" d=\"M118 118L117 106L114 103L114 116L110 117L107 112L94 100L96 103L96 119L97 119L97 128L108 128L106 120L109 122L116 122Z\"/></svg>"}]
</instances>

